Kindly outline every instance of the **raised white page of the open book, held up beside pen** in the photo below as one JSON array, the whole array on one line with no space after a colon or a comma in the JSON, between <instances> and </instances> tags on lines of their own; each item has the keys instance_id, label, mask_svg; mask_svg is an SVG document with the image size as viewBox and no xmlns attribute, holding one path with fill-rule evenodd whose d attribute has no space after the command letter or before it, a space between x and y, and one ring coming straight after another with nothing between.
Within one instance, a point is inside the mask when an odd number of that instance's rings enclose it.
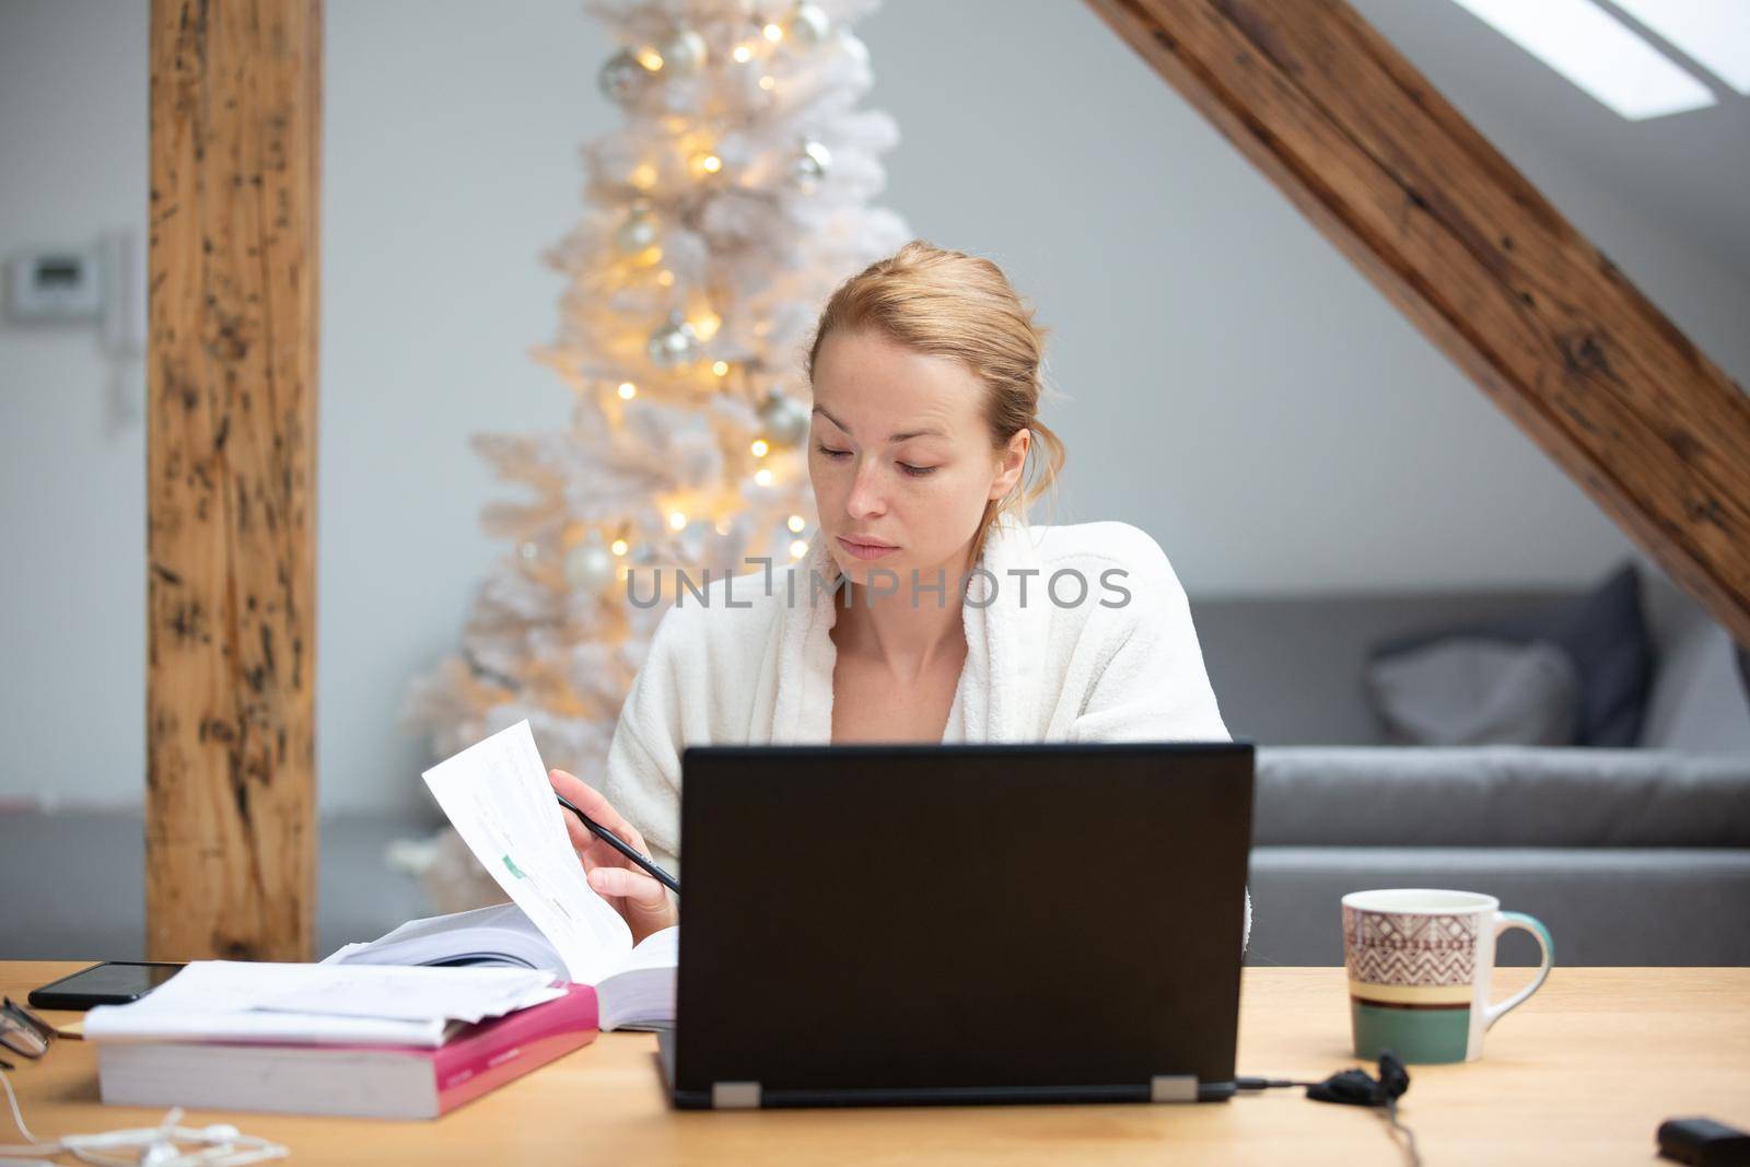
<instances>
[{"instance_id":1,"label":"raised white page of the open book, held up beside pen","mask_svg":"<svg viewBox=\"0 0 1750 1167\"><path fill-rule=\"evenodd\" d=\"M593 985L632 952L632 929L583 877L527 721L438 763L425 784L572 982Z\"/></svg>"}]
</instances>

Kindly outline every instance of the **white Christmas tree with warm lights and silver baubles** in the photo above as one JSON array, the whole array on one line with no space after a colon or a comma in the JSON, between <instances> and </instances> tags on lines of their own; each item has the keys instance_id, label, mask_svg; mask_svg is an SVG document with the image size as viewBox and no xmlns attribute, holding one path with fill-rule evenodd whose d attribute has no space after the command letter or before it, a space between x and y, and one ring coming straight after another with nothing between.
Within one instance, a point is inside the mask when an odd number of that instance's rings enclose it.
<instances>
[{"instance_id":1,"label":"white Christmas tree with warm lights and silver baubles","mask_svg":"<svg viewBox=\"0 0 1750 1167\"><path fill-rule=\"evenodd\" d=\"M898 128L858 108L873 75L850 24L878 0L584 7L623 45L600 87L625 124L583 149L584 219L544 254L569 287L534 357L572 423L474 437L532 497L485 507L511 551L404 723L443 758L527 717L548 765L595 777L667 607L630 604L628 570L648 602L656 567L807 551L803 346L833 287L910 231L870 205Z\"/></svg>"}]
</instances>

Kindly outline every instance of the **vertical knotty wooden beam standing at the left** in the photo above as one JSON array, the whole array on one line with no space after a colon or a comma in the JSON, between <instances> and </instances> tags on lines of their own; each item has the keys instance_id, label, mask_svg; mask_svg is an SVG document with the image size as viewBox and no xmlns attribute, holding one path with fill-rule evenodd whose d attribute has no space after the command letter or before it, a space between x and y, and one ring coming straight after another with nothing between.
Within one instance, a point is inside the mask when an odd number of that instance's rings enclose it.
<instances>
[{"instance_id":1,"label":"vertical knotty wooden beam standing at the left","mask_svg":"<svg viewBox=\"0 0 1750 1167\"><path fill-rule=\"evenodd\" d=\"M315 948L320 0L152 0L152 959Z\"/></svg>"}]
</instances>

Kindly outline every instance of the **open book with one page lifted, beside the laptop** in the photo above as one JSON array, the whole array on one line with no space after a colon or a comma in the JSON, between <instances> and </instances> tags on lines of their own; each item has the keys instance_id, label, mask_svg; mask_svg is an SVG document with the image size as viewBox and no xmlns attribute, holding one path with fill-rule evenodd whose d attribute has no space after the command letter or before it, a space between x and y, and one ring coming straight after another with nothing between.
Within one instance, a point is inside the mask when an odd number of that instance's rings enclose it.
<instances>
[{"instance_id":1,"label":"open book with one page lifted, beside the laptop","mask_svg":"<svg viewBox=\"0 0 1750 1167\"><path fill-rule=\"evenodd\" d=\"M602 1029L674 1024L679 929L634 948L632 929L583 878L527 721L425 772L425 786L508 905L402 924L326 964L509 964L595 985Z\"/></svg>"}]
</instances>

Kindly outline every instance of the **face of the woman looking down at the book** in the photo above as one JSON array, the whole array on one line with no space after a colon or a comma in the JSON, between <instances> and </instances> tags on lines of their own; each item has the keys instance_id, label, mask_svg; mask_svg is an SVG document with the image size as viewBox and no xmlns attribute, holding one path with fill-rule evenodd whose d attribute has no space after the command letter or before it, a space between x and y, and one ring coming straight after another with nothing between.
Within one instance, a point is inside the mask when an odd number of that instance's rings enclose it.
<instances>
[{"instance_id":1,"label":"face of the woman looking down at the book","mask_svg":"<svg viewBox=\"0 0 1750 1167\"><path fill-rule=\"evenodd\" d=\"M912 352L880 332L835 331L814 362L808 478L821 537L850 583L910 595L912 569L948 600L985 502L1020 476L1031 434L990 448L985 387L957 360ZM896 577L896 579L894 579Z\"/></svg>"}]
</instances>

